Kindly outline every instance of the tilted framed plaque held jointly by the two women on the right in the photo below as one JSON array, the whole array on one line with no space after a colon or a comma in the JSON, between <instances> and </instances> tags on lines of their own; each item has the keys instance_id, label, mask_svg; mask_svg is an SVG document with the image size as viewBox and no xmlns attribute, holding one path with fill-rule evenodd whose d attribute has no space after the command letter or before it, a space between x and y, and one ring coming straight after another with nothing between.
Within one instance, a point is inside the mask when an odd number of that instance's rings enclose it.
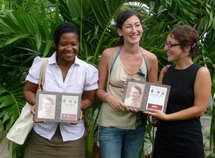
<instances>
[{"instance_id":1,"label":"tilted framed plaque held jointly by the two women on the right","mask_svg":"<svg viewBox=\"0 0 215 158\"><path fill-rule=\"evenodd\" d=\"M123 102L139 111L157 109L166 112L170 86L145 81L127 80Z\"/></svg>"}]
</instances>

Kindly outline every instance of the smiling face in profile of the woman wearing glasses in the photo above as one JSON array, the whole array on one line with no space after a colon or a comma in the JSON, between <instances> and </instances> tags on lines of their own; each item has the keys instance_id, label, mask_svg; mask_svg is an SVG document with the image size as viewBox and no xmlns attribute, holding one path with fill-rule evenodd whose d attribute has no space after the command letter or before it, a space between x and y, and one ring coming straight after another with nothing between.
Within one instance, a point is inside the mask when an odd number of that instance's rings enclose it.
<instances>
[{"instance_id":1,"label":"smiling face in profile of the woman wearing glasses","mask_svg":"<svg viewBox=\"0 0 215 158\"><path fill-rule=\"evenodd\" d=\"M173 45L172 47L170 45ZM180 60L184 60L189 56L189 50L187 48L182 49L178 40L176 40L173 36L168 35L164 50L167 53L167 60L169 62L177 62Z\"/></svg>"}]
</instances>

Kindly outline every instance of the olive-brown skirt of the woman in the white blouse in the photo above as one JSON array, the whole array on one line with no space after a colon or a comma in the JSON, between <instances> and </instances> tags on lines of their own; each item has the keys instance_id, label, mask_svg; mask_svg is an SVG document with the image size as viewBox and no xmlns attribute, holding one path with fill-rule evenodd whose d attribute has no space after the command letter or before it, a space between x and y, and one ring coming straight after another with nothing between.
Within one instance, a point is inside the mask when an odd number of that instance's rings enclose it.
<instances>
[{"instance_id":1,"label":"olive-brown skirt of the woman in the white blouse","mask_svg":"<svg viewBox=\"0 0 215 158\"><path fill-rule=\"evenodd\" d=\"M63 142L59 127L52 139L48 140L32 129L24 158L85 158L85 140L86 134L78 140Z\"/></svg>"}]
</instances>

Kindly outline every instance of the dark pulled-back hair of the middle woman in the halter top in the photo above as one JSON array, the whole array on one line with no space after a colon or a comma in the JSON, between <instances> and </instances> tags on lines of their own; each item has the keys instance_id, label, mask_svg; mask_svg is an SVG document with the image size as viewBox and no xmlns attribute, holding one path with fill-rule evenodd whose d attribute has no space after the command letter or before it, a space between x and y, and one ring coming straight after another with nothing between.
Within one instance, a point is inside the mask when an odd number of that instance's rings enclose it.
<instances>
[{"instance_id":1,"label":"dark pulled-back hair of the middle woman in the halter top","mask_svg":"<svg viewBox=\"0 0 215 158\"><path fill-rule=\"evenodd\" d=\"M116 28L122 29L122 25L124 24L124 22L133 15L137 16L140 20L140 23L142 23L139 13L137 13L134 10L125 10L125 11L119 13L119 15L117 16ZM122 46L123 44L124 44L123 36L120 36L120 39L117 41L116 46Z\"/></svg>"}]
</instances>

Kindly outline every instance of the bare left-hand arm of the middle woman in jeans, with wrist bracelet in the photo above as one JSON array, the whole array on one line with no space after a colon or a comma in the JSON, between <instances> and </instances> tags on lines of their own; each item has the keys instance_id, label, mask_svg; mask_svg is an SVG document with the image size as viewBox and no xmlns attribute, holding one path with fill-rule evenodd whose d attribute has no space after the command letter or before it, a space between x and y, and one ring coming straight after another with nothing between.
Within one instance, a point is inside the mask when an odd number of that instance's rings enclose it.
<instances>
[{"instance_id":1,"label":"bare left-hand arm of the middle woman in jeans, with wrist bracelet","mask_svg":"<svg viewBox=\"0 0 215 158\"><path fill-rule=\"evenodd\" d=\"M109 63L111 60L112 48L104 50L99 61L99 81L98 90L96 91L96 96L99 100L103 102L108 102L108 104L115 110L119 111L121 108L126 108L125 104L118 98L107 93L105 90L106 81L108 79Z\"/></svg>"}]
</instances>

